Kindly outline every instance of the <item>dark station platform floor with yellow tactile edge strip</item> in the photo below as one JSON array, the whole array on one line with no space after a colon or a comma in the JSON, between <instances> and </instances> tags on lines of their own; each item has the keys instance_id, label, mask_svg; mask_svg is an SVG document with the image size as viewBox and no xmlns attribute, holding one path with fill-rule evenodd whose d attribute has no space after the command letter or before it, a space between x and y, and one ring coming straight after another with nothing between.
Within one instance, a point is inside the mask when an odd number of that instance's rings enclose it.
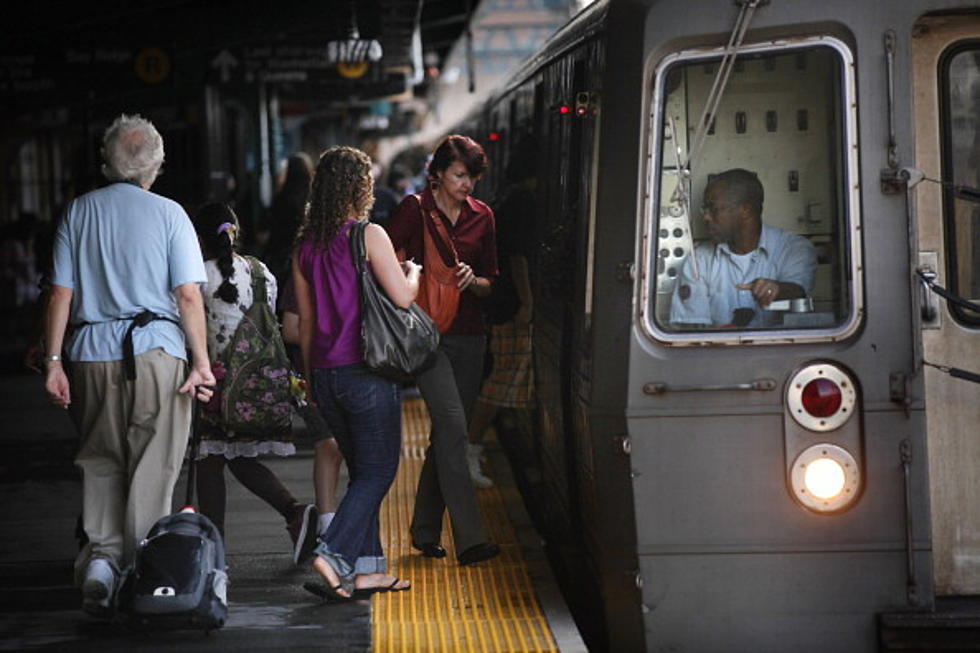
<instances>
[{"instance_id":1,"label":"dark station platform floor with yellow tactile edge strip","mask_svg":"<svg viewBox=\"0 0 980 653\"><path fill-rule=\"evenodd\" d=\"M424 403L407 398L402 461L382 508L382 534L390 570L412 581L410 591L343 604L309 594L302 584L319 577L309 565L292 564L282 518L229 476L228 622L210 635L145 635L79 610L71 564L81 484L71 464L71 423L44 401L39 376L0 375L0 651L585 651L493 442L495 485L477 494L501 555L460 567L448 523L446 558L411 549L408 522L427 432ZM264 460L297 498L312 500L309 448ZM183 475L174 496L182 503Z\"/></svg>"}]
</instances>

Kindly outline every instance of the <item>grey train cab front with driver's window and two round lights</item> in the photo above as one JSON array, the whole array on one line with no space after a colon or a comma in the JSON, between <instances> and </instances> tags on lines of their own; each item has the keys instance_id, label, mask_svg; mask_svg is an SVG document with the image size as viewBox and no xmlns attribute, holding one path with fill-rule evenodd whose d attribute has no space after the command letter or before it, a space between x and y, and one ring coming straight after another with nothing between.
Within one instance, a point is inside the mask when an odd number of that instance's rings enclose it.
<instances>
[{"instance_id":1,"label":"grey train cab front with driver's window and two round lights","mask_svg":"<svg viewBox=\"0 0 980 653\"><path fill-rule=\"evenodd\" d=\"M651 57L627 411L651 650L867 651L884 606L931 596L922 414L889 396L908 233L861 183L858 105L887 103L854 43Z\"/></svg>"}]
</instances>

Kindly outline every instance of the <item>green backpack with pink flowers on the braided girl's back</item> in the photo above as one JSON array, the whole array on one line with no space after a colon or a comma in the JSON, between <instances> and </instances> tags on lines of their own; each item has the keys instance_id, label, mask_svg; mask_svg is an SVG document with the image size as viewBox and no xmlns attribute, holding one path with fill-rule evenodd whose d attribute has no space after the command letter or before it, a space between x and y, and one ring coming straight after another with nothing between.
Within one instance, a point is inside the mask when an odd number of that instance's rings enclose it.
<instances>
[{"instance_id":1,"label":"green backpack with pink flowers on the braided girl's back","mask_svg":"<svg viewBox=\"0 0 980 653\"><path fill-rule=\"evenodd\" d=\"M290 362L269 306L265 275L258 260L246 256L252 273L252 305L215 362L215 399L225 428L268 432L289 428L294 406Z\"/></svg>"}]
</instances>

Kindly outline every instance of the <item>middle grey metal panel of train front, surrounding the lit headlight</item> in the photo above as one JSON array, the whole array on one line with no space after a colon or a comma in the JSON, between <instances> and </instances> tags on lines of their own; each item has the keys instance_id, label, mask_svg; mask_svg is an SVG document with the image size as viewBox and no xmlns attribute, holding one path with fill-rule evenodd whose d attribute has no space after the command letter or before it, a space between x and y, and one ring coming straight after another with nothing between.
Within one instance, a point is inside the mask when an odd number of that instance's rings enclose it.
<instances>
[{"instance_id":1,"label":"middle grey metal panel of train front, surrounding the lit headlight","mask_svg":"<svg viewBox=\"0 0 980 653\"><path fill-rule=\"evenodd\" d=\"M928 515L928 476L921 416L866 418L864 496L840 515L819 515L793 499L783 464L782 417L656 417L632 439L634 459L648 461L634 479L640 555L684 551L733 553L799 550L905 550L900 446L909 440L916 514ZM819 440L818 436L814 440ZM916 546L928 548L928 521L915 523ZM872 581L877 582L877 581ZM903 582L898 589L904 592Z\"/></svg>"}]
</instances>

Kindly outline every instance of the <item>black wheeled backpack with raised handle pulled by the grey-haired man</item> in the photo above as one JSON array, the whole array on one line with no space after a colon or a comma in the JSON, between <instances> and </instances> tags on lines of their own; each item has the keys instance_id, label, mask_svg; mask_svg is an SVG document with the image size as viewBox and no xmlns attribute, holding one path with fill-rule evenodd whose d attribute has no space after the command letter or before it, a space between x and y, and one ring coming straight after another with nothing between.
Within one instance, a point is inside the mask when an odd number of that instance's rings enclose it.
<instances>
[{"instance_id":1,"label":"black wheeled backpack with raised handle pulled by the grey-haired man","mask_svg":"<svg viewBox=\"0 0 980 653\"><path fill-rule=\"evenodd\" d=\"M196 415L197 411L192 406ZM192 418L188 507L161 517L136 548L117 597L119 614L139 630L221 628L228 618L225 544L214 523L195 512L199 439Z\"/></svg>"}]
</instances>

